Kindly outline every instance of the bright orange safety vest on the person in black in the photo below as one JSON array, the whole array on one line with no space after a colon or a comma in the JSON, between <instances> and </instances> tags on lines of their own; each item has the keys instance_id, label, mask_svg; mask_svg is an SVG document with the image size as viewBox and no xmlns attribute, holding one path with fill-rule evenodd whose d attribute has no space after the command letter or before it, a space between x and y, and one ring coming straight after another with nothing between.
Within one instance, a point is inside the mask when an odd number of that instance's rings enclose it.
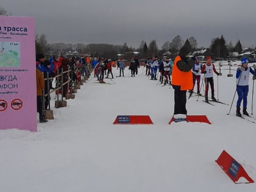
<instances>
[{"instance_id":1,"label":"bright orange safety vest on the person in black","mask_svg":"<svg viewBox=\"0 0 256 192\"><path fill-rule=\"evenodd\" d=\"M193 88L193 74L192 71L180 71L177 67L177 62L181 60L178 55L172 66L172 85L180 85L180 90L191 90Z\"/></svg>"}]
</instances>

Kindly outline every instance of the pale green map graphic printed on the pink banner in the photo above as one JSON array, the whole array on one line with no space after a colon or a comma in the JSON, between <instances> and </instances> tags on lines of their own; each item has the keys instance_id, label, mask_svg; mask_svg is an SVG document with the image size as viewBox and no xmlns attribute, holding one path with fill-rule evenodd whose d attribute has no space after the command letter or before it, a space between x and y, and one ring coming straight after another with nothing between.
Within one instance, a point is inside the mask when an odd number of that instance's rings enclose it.
<instances>
[{"instance_id":1,"label":"pale green map graphic printed on the pink banner","mask_svg":"<svg viewBox=\"0 0 256 192\"><path fill-rule=\"evenodd\" d=\"M0 67L20 66L20 43L0 41Z\"/></svg>"}]
</instances>

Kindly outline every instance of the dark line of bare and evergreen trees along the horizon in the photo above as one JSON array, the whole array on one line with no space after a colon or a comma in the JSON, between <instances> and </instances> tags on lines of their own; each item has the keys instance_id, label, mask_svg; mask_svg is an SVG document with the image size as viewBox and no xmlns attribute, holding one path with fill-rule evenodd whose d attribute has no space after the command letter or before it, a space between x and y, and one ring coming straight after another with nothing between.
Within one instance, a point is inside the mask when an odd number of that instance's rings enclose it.
<instances>
[{"instance_id":1,"label":"dark line of bare and evergreen trees along the horizon","mask_svg":"<svg viewBox=\"0 0 256 192\"><path fill-rule=\"evenodd\" d=\"M7 11L0 6L0 15L8 15ZM232 41L226 43L224 35L221 37L212 38L210 46L208 48L197 48L197 40L194 37L190 37L183 41L180 35L174 37L171 41L166 41L163 45L158 48L156 40L152 40L149 44L142 40L139 48L128 47L127 43L123 45L115 44L71 44L71 43L48 43L46 35L42 34L35 37L35 48L36 52L43 53L45 55L63 55L63 54L76 54L90 55L91 57L104 57L109 59L117 60L119 57L123 59L130 59L134 55L137 55L141 59L149 59L155 55L162 57L163 55L173 59L179 53L180 48L183 45L190 47L191 51L199 51L207 49L206 54L213 58L221 57L226 59L232 57L233 52L240 54L243 51L242 44L238 40L233 46Z\"/></svg>"}]
</instances>

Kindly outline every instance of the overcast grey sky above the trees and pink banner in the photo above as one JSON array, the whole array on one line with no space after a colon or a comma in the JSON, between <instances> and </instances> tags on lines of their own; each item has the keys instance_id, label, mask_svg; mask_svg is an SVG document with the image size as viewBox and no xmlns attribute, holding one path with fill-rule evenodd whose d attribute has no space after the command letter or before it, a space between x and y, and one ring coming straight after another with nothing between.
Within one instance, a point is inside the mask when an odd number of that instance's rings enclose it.
<instances>
[{"instance_id":1,"label":"overcast grey sky above the trees and pink banner","mask_svg":"<svg viewBox=\"0 0 256 192\"><path fill-rule=\"evenodd\" d=\"M233 46L256 46L255 0L1 0L12 16L33 16L48 43L109 43L158 48L177 35L208 48L224 35Z\"/></svg>"}]
</instances>

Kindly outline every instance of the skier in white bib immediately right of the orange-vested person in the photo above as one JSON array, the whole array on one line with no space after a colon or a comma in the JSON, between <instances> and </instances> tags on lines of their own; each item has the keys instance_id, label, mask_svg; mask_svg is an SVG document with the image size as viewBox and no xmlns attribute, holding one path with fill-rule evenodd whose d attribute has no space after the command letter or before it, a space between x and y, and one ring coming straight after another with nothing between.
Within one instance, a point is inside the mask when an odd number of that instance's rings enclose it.
<instances>
[{"instance_id":1,"label":"skier in white bib immediately right of the orange-vested person","mask_svg":"<svg viewBox=\"0 0 256 192\"><path fill-rule=\"evenodd\" d=\"M194 90L194 85L197 85L197 94L201 95L200 93L200 80L201 80L201 69L202 69L202 64L199 62L199 57L196 57L196 62L194 63L194 66L192 68L192 73L193 73L193 89L190 90L190 95L193 94Z\"/></svg>"}]
</instances>

